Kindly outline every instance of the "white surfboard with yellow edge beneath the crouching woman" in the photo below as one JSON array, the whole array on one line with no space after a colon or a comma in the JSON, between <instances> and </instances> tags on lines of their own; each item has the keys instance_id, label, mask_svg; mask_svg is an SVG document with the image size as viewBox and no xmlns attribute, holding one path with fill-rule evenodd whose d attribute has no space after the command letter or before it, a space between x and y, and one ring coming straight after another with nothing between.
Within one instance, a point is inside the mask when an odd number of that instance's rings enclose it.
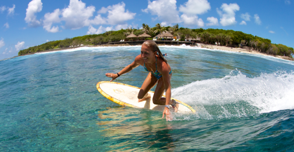
<instances>
[{"instance_id":1,"label":"white surfboard with yellow edge beneath the crouching woman","mask_svg":"<svg viewBox=\"0 0 294 152\"><path fill-rule=\"evenodd\" d=\"M150 99L147 99L142 102L138 102L138 93L141 88L130 86L123 83L109 82L109 81L98 82L96 87L97 87L97 90L104 97L122 106L145 108L145 109L158 110L158 111L163 111L165 107L164 105L153 104L153 101L152 101L152 98L154 95L153 91L148 92L151 95ZM165 95L163 95L162 97L165 97ZM171 99L174 99L174 98L171 98ZM191 106L187 105L186 103L183 103L179 100L176 100L176 101L180 103L178 107L178 113L196 112L195 109L193 109Z\"/></svg>"}]
</instances>

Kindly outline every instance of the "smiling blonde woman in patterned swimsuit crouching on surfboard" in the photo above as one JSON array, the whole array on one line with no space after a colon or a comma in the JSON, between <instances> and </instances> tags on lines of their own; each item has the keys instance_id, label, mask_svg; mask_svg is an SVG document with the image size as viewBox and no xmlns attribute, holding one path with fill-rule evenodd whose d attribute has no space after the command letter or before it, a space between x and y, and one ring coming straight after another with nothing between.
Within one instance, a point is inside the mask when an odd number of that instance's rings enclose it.
<instances>
[{"instance_id":1,"label":"smiling blonde woman in patterned swimsuit crouching on surfboard","mask_svg":"<svg viewBox=\"0 0 294 152\"><path fill-rule=\"evenodd\" d=\"M131 64L116 74L107 73L105 75L112 78L110 81L113 81L139 65L143 66L149 73L138 93L138 102L151 98L151 95L148 92L157 83L152 98L153 103L155 105L165 105L162 117L166 115L166 121L171 120L172 118L170 117L169 111L170 105L175 109L175 112L177 112L179 104L175 100L171 100L171 67L166 59L164 59L156 42L153 40L145 41L141 47L141 54L136 56ZM164 92L166 92L166 98L162 97Z\"/></svg>"}]
</instances>

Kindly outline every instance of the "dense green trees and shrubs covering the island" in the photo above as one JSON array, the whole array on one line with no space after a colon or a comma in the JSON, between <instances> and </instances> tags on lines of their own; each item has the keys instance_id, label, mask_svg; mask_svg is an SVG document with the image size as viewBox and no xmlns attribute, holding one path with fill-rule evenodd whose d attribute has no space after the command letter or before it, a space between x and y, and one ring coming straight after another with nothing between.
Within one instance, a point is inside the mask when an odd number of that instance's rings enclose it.
<instances>
[{"instance_id":1,"label":"dense green trees and shrubs covering the island","mask_svg":"<svg viewBox=\"0 0 294 152\"><path fill-rule=\"evenodd\" d=\"M155 37L163 31L168 31L174 36L179 36L181 41L185 39L197 38L200 37L201 41L206 44L215 44L218 45L236 45L239 47L248 46L252 47L254 51L264 52L272 55L281 55L292 57L291 54L294 53L292 47L287 47L282 44L273 44L269 39L265 39L258 36L253 36L251 34L245 34L240 31L234 30L223 30L223 29L189 29L189 28L179 28L178 24L173 27L164 27L161 24L156 24L155 27L151 28L149 25L142 24L143 29L132 29L128 28L126 30L121 29L118 31L107 31L103 34L93 34L93 35L84 35L74 38L66 38L64 40L51 41L44 43L42 45L29 47L19 51L19 55L40 52L49 49L64 48L70 46L78 45L100 45L107 44L108 42L117 42L123 39L126 39L126 36L130 34L141 35L146 33ZM150 39L150 38L149 38Z\"/></svg>"}]
</instances>

